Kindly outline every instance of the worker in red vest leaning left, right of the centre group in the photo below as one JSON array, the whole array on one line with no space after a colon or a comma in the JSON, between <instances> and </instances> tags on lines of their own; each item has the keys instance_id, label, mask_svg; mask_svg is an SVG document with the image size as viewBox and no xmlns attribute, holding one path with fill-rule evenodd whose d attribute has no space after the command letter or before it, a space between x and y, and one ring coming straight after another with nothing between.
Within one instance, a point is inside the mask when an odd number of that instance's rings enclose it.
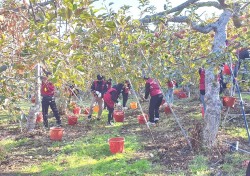
<instances>
[{"instance_id":1,"label":"worker in red vest leaning left, right of the centre group","mask_svg":"<svg viewBox=\"0 0 250 176\"><path fill-rule=\"evenodd\" d=\"M145 77L145 99L150 95L149 102L149 122L148 125L154 125L159 121L159 108L163 99L163 94L161 92L158 82L152 78Z\"/></svg>"}]
</instances>

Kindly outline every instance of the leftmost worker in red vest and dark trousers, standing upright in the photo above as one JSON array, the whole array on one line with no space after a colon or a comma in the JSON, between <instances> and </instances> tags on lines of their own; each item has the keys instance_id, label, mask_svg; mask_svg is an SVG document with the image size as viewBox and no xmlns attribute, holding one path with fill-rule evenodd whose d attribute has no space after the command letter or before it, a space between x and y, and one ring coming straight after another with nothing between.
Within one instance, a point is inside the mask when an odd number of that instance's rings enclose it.
<instances>
[{"instance_id":1,"label":"leftmost worker in red vest and dark trousers, standing upright","mask_svg":"<svg viewBox=\"0 0 250 176\"><path fill-rule=\"evenodd\" d=\"M43 113L43 125L47 129L49 127L48 124L48 109L49 106L51 110L54 113L54 116L56 118L56 124L58 127L61 127L61 118L59 115L59 111L57 109L56 103L55 103L55 86L52 82L50 82L48 79L49 75L51 75L51 72L46 72L46 76L42 76L42 85L41 85L41 96L42 96L42 113Z\"/></svg>"}]
</instances>

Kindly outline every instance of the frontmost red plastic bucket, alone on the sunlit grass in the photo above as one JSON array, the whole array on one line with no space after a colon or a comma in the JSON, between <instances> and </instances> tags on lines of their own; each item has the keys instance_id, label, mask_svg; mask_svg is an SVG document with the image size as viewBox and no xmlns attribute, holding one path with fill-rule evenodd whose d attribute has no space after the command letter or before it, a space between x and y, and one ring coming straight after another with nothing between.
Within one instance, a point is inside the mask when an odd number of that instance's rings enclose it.
<instances>
[{"instance_id":1,"label":"frontmost red plastic bucket, alone on the sunlit grass","mask_svg":"<svg viewBox=\"0 0 250 176\"><path fill-rule=\"evenodd\" d=\"M115 137L109 139L109 149L112 154L124 152L124 137Z\"/></svg>"}]
</instances>

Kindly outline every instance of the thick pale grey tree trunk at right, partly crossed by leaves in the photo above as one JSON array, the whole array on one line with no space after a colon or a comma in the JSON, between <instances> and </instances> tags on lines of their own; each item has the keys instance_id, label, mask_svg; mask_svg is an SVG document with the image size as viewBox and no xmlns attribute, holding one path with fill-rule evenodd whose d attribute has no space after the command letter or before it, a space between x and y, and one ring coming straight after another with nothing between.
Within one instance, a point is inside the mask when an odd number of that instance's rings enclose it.
<instances>
[{"instance_id":1,"label":"thick pale grey tree trunk at right, partly crossed by leaves","mask_svg":"<svg viewBox=\"0 0 250 176\"><path fill-rule=\"evenodd\" d=\"M228 21L232 16L232 12L225 10L217 23L215 24L214 31L214 43L212 48L212 53L214 53L218 59L220 59L220 54L223 53L226 41L226 26ZM219 97L219 83L217 81L217 75L214 74L215 67L218 65L210 65L206 69L206 112L204 119L204 129L203 138L204 145L206 147L212 148L215 145L216 136L219 131L219 125L221 120L221 107L222 103Z\"/></svg>"}]
</instances>

